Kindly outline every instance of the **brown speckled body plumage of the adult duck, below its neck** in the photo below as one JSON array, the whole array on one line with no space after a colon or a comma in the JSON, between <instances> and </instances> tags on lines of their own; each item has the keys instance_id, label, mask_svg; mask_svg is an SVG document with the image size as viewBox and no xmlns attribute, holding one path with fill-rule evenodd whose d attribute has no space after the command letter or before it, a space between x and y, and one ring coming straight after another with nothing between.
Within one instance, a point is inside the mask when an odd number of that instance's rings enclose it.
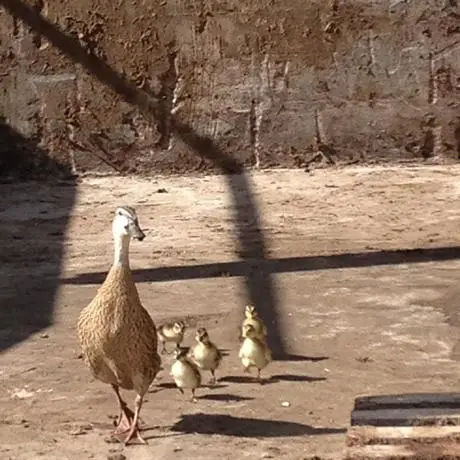
<instances>
[{"instance_id":1,"label":"brown speckled body plumage of the adult duck, below its neck","mask_svg":"<svg viewBox=\"0 0 460 460\"><path fill-rule=\"evenodd\" d=\"M80 314L83 357L98 380L144 394L161 365L155 324L139 299L131 270L113 266Z\"/></svg>"}]
</instances>

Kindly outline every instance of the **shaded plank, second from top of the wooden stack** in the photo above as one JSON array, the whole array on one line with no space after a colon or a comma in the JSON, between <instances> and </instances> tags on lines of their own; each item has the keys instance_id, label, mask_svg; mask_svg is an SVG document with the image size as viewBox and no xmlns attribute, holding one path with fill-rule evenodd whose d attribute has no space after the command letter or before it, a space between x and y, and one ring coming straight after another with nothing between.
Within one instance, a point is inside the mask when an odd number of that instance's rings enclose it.
<instances>
[{"instance_id":1,"label":"shaded plank, second from top of the wooden stack","mask_svg":"<svg viewBox=\"0 0 460 460\"><path fill-rule=\"evenodd\" d=\"M351 425L460 425L460 408L354 410Z\"/></svg>"}]
</instances>

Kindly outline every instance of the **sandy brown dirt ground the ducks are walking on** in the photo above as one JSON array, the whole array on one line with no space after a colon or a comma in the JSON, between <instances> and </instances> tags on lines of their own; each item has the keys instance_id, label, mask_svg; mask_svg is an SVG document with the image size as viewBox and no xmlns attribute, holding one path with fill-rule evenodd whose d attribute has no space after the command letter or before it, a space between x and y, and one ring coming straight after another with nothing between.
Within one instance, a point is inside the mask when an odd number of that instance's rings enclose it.
<instances>
[{"instance_id":1,"label":"sandy brown dirt ground the ducks are walking on","mask_svg":"<svg viewBox=\"0 0 460 460\"><path fill-rule=\"evenodd\" d=\"M456 391L459 174L252 173L265 261L239 259L222 177L1 185L0 458L339 459L355 397ZM131 265L153 319L184 318L185 344L205 326L228 353L195 404L172 387L165 356L141 414L149 444L126 448L110 442L116 401L84 367L75 329L111 264L118 204L135 206L147 233ZM409 249L420 250L392 252ZM263 386L237 358L255 279L293 356L271 363Z\"/></svg>"}]
</instances>

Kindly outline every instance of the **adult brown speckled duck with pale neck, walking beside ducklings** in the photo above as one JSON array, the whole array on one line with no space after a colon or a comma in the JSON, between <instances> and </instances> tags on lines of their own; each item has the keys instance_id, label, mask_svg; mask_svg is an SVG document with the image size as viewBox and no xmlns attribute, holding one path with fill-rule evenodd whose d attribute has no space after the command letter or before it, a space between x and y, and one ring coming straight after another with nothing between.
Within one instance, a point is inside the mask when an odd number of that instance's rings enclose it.
<instances>
[{"instance_id":1,"label":"adult brown speckled duck with pale neck, walking beside ducklings","mask_svg":"<svg viewBox=\"0 0 460 460\"><path fill-rule=\"evenodd\" d=\"M77 331L83 358L93 376L111 385L119 406L114 435L125 445L139 433L144 395L161 367L156 326L142 306L129 266L131 239L142 241L136 211L128 206L115 211L112 224L114 261L96 296L80 313ZM120 388L136 392L134 413Z\"/></svg>"}]
</instances>

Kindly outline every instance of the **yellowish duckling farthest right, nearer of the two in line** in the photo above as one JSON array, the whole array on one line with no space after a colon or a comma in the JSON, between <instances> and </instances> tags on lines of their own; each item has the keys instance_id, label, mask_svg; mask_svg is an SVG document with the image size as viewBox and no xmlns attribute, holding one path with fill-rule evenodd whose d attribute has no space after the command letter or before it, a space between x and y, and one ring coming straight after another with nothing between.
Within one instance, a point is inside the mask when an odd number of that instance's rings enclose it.
<instances>
[{"instance_id":1,"label":"yellowish duckling farthest right, nearer of the two in line","mask_svg":"<svg viewBox=\"0 0 460 460\"><path fill-rule=\"evenodd\" d=\"M238 357L244 366L244 372L249 372L251 367L257 368L257 380L262 384L260 371L272 360L270 348L264 340L261 340L252 324L243 327L243 345L241 345Z\"/></svg>"}]
</instances>

